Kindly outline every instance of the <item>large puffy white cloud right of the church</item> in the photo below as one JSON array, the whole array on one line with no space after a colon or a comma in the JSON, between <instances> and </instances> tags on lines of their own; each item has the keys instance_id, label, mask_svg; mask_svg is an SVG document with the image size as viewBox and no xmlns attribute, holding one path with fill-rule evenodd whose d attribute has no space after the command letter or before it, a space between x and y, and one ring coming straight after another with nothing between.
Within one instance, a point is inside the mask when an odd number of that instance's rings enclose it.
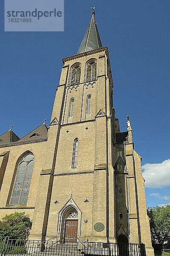
<instances>
[{"instance_id":1,"label":"large puffy white cloud right of the church","mask_svg":"<svg viewBox=\"0 0 170 256\"><path fill-rule=\"evenodd\" d=\"M170 159L162 163L146 163L142 166L146 188L170 186Z\"/></svg>"}]
</instances>

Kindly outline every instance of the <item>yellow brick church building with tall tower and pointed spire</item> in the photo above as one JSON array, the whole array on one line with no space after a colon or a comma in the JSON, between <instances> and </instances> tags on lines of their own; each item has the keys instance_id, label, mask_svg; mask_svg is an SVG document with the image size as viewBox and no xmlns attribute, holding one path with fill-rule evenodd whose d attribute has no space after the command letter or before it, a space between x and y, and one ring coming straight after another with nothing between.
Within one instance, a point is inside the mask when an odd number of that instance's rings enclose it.
<instances>
[{"instance_id":1,"label":"yellow brick church building with tall tower and pointed spire","mask_svg":"<svg viewBox=\"0 0 170 256\"><path fill-rule=\"evenodd\" d=\"M0 135L0 219L25 212L32 240L143 243L153 256L141 156L128 116L120 131L94 16L77 54L62 59L49 126Z\"/></svg>"}]
</instances>

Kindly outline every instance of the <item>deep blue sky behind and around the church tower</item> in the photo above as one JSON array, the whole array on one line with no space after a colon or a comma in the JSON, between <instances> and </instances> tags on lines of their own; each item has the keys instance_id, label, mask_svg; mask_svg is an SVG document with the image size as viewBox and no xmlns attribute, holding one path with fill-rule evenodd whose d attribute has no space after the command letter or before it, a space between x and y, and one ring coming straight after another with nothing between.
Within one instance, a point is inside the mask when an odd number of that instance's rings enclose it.
<instances>
[{"instance_id":1,"label":"deep blue sky behind and around the church tower","mask_svg":"<svg viewBox=\"0 0 170 256\"><path fill-rule=\"evenodd\" d=\"M1 1L0 134L49 123L61 58L77 53L91 6L109 49L116 117L125 131L129 114L142 156L147 206L170 203L170 0L65 0L64 32L4 32Z\"/></svg>"}]
</instances>

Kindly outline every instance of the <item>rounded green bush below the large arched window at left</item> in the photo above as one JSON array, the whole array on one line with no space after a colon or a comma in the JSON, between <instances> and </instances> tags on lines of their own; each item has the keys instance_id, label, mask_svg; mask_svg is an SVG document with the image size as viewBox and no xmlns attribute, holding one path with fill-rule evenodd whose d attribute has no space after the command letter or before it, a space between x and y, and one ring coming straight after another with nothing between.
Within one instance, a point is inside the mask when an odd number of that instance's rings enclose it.
<instances>
[{"instance_id":1,"label":"rounded green bush below the large arched window at left","mask_svg":"<svg viewBox=\"0 0 170 256\"><path fill-rule=\"evenodd\" d=\"M31 221L25 212L14 212L5 215L0 221L0 236L10 239L26 240L31 230Z\"/></svg>"}]
</instances>

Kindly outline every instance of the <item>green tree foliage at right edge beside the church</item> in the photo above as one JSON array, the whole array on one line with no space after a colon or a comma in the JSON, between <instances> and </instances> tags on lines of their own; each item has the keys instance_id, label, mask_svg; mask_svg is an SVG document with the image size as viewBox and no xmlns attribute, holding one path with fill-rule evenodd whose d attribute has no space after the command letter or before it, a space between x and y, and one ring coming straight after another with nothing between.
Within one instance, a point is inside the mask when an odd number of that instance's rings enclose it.
<instances>
[{"instance_id":1,"label":"green tree foliage at right edge beside the church","mask_svg":"<svg viewBox=\"0 0 170 256\"><path fill-rule=\"evenodd\" d=\"M147 209L150 218L150 232L152 243L170 244L170 205Z\"/></svg>"}]
</instances>

